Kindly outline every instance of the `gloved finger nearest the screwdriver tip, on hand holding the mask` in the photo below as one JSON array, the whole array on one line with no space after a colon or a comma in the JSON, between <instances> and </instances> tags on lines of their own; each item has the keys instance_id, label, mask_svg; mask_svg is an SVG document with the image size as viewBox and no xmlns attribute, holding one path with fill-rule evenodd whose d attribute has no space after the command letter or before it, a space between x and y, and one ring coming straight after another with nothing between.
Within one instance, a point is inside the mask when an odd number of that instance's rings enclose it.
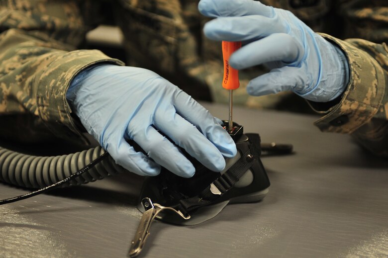
<instances>
[{"instance_id":1,"label":"gloved finger nearest the screwdriver tip, on hand holding the mask","mask_svg":"<svg viewBox=\"0 0 388 258\"><path fill-rule=\"evenodd\" d=\"M174 105L178 114L195 125L224 157L232 158L237 154L236 144L220 125L222 121L218 122L186 92L180 90L175 94Z\"/></svg>"}]
</instances>

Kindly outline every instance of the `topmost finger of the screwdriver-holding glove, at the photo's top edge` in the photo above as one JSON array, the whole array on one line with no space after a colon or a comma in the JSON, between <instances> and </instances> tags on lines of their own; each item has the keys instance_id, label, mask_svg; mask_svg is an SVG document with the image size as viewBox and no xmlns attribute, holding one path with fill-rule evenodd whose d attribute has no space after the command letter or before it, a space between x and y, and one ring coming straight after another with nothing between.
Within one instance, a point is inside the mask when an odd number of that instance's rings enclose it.
<instances>
[{"instance_id":1,"label":"topmost finger of the screwdriver-holding glove, at the photo's top edge","mask_svg":"<svg viewBox=\"0 0 388 258\"><path fill-rule=\"evenodd\" d=\"M200 0L198 10L208 17L245 16L253 14L272 17L274 15L273 7L253 0Z\"/></svg>"}]
</instances>

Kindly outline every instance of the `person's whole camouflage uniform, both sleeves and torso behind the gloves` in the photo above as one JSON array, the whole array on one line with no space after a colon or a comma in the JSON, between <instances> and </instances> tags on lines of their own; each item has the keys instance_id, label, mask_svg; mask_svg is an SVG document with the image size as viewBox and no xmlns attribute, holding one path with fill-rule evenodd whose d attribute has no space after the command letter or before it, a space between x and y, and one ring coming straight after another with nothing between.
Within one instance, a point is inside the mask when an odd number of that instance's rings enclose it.
<instances>
[{"instance_id":1,"label":"person's whole camouflage uniform, both sleeves and torso behind the gloves","mask_svg":"<svg viewBox=\"0 0 388 258\"><path fill-rule=\"evenodd\" d=\"M262 2L292 11L314 31L326 33L322 36L348 57L348 89L339 104L321 112L323 116L315 124L322 131L351 134L376 154L388 156L387 0ZM27 134L29 140L52 133L80 139L77 119L65 98L70 81L98 62L122 65L96 50L75 50L86 31L101 22L104 12L98 8L100 3L106 4L97 0L0 0L0 122L11 124L8 131L1 127L1 135L33 128ZM202 35L208 18L199 14L197 3L114 1L114 17L125 36L127 65L151 69L197 99L211 96L214 101L226 102L227 92L220 86L220 42ZM350 37L358 39L343 40ZM300 102L301 98L288 92L247 95L249 80L265 72L261 67L240 72L236 103L276 108L290 98Z\"/></svg>"}]
</instances>

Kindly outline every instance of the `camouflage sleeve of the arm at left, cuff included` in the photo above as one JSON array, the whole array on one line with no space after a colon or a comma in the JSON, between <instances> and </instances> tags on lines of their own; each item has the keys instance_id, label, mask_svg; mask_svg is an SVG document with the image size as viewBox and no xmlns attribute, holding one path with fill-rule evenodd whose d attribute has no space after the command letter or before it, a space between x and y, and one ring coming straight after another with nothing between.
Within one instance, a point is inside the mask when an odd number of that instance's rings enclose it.
<instances>
[{"instance_id":1,"label":"camouflage sleeve of the arm at left, cuff included","mask_svg":"<svg viewBox=\"0 0 388 258\"><path fill-rule=\"evenodd\" d=\"M71 80L97 63L123 65L97 50L76 50L88 30L78 1L0 3L0 135L36 142L85 140L66 100Z\"/></svg>"}]
</instances>

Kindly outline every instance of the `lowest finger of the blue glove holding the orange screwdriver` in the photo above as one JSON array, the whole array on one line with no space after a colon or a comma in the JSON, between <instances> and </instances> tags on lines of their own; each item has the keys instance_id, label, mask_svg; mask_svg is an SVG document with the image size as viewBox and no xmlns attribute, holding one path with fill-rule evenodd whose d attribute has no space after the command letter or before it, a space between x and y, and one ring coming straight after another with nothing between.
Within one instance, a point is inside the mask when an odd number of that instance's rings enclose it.
<instances>
[{"instance_id":1,"label":"lowest finger of the blue glove holding the orange screwdriver","mask_svg":"<svg viewBox=\"0 0 388 258\"><path fill-rule=\"evenodd\" d=\"M269 73L250 81L247 85L247 92L250 95L262 96L303 88L306 83L308 84L302 69L285 66L273 69Z\"/></svg>"}]
</instances>

